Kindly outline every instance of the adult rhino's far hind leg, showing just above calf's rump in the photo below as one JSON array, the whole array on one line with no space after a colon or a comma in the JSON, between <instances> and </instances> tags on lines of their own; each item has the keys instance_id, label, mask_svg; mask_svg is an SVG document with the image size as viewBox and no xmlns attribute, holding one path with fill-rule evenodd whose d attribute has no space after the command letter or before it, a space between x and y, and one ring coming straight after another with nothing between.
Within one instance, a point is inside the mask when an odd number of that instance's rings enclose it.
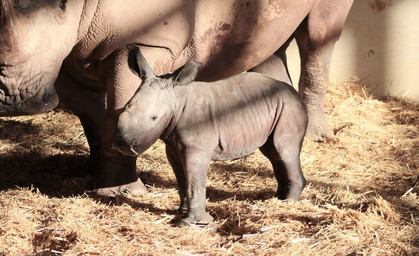
<instances>
[{"instance_id":1,"label":"adult rhino's far hind leg, showing just above calf's rump","mask_svg":"<svg viewBox=\"0 0 419 256\"><path fill-rule=\"evenodd\" d=\"M287 66L287 56L285 54L292 39L293 37L288 39L274 54L249 71L264 74L278 81L292 84Z\"/></svg>"}]
</instances>

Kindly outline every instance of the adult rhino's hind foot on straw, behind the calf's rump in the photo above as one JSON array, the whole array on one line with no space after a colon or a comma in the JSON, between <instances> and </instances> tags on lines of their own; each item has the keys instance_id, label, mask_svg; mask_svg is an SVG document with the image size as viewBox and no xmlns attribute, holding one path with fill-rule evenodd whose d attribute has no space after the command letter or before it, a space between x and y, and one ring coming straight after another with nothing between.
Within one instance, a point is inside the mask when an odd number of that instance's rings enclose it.
<instances>
[{"instance_id":1,"label":"adult rhino's hind foot on straw, behind the calf's rump","mask_svg":"<svg viewBox=\"0 0 419 256\"><path fill-rule=\"evenodd\" d=\"M334 136L333 131L327 124L323 110L308 110L307 136L316 142L323 142L325 138Z\"/></svg>"}]
</instances>

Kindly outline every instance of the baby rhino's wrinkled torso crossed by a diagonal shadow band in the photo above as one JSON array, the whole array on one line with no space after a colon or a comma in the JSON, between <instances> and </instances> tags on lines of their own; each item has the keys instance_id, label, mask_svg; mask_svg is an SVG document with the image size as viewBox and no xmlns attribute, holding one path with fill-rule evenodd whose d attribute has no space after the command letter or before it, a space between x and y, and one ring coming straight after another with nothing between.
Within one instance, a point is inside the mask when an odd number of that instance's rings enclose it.
<instances>
[{"instance_id":1,"label":"baby rhino's wrinkled torso crossed by a diagonal shadow band","mask_svg":"<svg viewBox=\"0 0 419 256\"><path fill-rule=\"evenodd\" d=\"M264 145L277 126L284 104L290 108L287 112L293 113L283 119L297 118L303 123L306 119L300 97L290 85L259 73L243 73L212 83L195 82L179 90L188 100L177 132L185 145L211 151L212 160L243 157ZM294 133L304 133L302 130L296 127Z\"/></svg>"}]
</instances>

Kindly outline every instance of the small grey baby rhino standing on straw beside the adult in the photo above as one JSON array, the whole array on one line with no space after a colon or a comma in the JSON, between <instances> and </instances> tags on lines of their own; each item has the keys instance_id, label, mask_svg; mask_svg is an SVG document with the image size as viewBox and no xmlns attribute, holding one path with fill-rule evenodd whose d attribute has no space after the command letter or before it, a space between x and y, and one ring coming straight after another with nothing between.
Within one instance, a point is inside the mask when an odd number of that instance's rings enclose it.
<instances>
[{"instance_id":1,"label":"small grey baby rhino standing on straw beside the adult","mask_svg":"<svg viewBox=\"0 0 419 256\"><path fill-rule=\"evenodd\" d=\"M298 200L305 186L300 151L307 113L290 85L259 73L194 82L200 64L188 62L157 77L136 46L129 65L142 83L119 116L113 145L139 155L157 139L178 182L179 225L208 223L205 183L211 160L235 159L256 149L271 161L280 199Z\"/></svg>"}]
</instances>

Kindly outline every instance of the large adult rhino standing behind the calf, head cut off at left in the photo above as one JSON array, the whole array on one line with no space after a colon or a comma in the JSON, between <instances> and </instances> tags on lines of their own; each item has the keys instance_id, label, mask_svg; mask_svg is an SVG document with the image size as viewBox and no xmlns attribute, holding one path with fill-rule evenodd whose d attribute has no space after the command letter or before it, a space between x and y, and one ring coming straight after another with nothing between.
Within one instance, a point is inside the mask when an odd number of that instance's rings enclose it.
<instances>
[{"instance_id":1,"label":"large adult rhino standing behind the calf, head cut off at left","mask_svg":"<svg viewBox=\"0 0 419 256\"><path fill-rule=\"evenodd\" d=\"M255 68L289 81L285 50L295 38L308 132L321 139L332 134L322 105L352 2L0 0L0 115L41 113L59 98L84 127L98 192L141 193L135 157L110 146L118 115L140 84L125 45L141 45L157 75L194 59L203 64L198 80Z\"/></svg>"}]
</instances>

